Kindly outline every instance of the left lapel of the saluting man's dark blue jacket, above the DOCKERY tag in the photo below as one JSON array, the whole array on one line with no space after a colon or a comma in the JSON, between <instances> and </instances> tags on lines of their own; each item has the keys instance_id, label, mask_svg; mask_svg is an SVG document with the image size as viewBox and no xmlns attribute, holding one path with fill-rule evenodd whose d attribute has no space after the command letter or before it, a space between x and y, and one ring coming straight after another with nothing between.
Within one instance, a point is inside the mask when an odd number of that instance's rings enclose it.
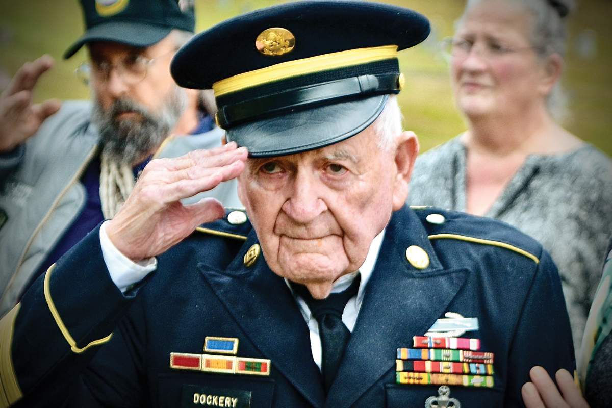
<instances>
[{"instance_id":1,"label":"left lapel of the saluting man's dark blue jacket, above the DOCKERY tag","mask_svg":"<svg viewBox=\"0 0 612 408\"><path fill-rule=\"evenodd\" d=\"M310 349L310 332L285 280L259 256L247 268L244 254L258 243L253 231L224 271L201 268L202 275L261 354L315 407L323 407L321 373Z\"/></svg>"}]
</instances>

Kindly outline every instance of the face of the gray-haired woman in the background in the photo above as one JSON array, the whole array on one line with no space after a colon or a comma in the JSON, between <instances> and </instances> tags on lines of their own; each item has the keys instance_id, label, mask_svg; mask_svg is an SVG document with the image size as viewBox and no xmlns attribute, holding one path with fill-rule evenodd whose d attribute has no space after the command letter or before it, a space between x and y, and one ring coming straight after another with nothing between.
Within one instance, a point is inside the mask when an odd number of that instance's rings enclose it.
<instances>
[{"instance_id":1,"label":"face of the gray-haired woman in the background","mask_svg":"<svg viewBox=\"0 0 612 408\"><path fill-rule=\"evenodd\" d=\"M451 59L455 100L466 116L520 114L542 103L532 24L531 14L506 0L484 0L468 12L455 37L471 43L471 51Z\"/></svg>"}]
</instances>

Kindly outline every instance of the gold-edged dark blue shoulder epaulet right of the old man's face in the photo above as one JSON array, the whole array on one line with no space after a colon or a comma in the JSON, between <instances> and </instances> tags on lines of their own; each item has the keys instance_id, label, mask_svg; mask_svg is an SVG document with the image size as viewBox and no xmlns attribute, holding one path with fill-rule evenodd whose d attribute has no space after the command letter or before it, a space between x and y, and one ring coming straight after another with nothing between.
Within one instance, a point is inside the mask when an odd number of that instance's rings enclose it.
<instances>
[{"instance_id":1,"label":"gold-edged dark blue shoulder epaulet right of the old man's face","mask_svg":"<svg viewBox=\"0 0 612 408\"><path fill-rule=\"evenodd\" d=\"M431 206L410 206L410 208L416 210L430 240L455 239L492 245L526 256L536 264L540 262L534 254L541 252L539 243L509 224Z\"/></svg>"}]
</instances>

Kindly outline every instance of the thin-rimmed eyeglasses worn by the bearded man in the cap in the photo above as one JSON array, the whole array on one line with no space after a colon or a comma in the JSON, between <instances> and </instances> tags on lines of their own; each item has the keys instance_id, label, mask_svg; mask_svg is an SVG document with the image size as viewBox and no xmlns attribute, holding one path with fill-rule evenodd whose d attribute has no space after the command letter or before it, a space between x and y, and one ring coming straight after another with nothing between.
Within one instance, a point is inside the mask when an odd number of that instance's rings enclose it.
<instances>
[{"instance_id":1,"label":"thin-rimmed eyeglasses worn by the bearded man in the cap","mask_svg":"<svg viewBox=\"0 0 612 408\"><path fill-rule=\"evenodd\" d=\"M125 57L118 64L109 64L103 61L81 62L76 68L75 74L86 85L89 85L91 81L106 83L113 69L116 69L119 77L124 83L133 85L144 80L147 76L147 70L149 70L149 67L155 61L159 61L162 57L174 52L175 50L168 51L155 58L147 58L142 55L133 54Z\"/></svg>"}]
</instances>

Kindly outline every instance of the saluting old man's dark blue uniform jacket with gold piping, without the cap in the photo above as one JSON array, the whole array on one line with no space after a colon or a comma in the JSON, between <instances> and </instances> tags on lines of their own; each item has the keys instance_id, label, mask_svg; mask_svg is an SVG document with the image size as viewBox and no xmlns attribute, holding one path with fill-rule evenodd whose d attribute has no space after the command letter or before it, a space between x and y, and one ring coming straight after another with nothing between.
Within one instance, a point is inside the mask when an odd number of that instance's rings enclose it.
<instances>
[{"instance_id":1,"label":"saluting old man's dark blue uniform jacket with gold piping, without the cap","mask_svg":"<svg viewBox=\"0 0 612 408\"><path fill-rule=\"evenodd\" d=\"M446 221L426 221L431 213ZM520 389L534 365L573 372L556 267L537 242L506 224L433 208L395 212L327 396L285 281L263 256L244 265L258 242L250 223L205 227L159 256L157 271L125 295L110 280L97 229L47 272L46 288L41 276L2 324L2 347L8 341L12 354L2 351L0 375L13 390L13 369L17 405L218 406L218 398L194 402L201 390L250 392L252 408L422 408L439 385L396 384L397 348L411 347L412 336L448 311L477 317L479 330L464 337L494 353L493 388L450 386L463 407L523 406ZM411 245L427 252L427 268L407 261ZM237 355L271 360L269 376L170 367L172 352L203 354L206 336L239 339Z\"/></svg>"}]
</instances>

